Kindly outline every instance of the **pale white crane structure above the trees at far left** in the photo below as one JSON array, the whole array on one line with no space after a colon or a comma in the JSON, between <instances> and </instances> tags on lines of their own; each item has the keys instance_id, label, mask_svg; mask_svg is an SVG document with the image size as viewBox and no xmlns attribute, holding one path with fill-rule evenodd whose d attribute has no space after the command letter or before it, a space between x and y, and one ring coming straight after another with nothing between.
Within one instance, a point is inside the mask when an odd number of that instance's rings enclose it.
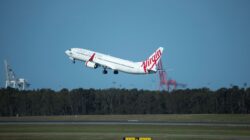
<instances>
[{"instance_id":1,"label":"pale white crane structure above the trees at far left","mask_svg":"<svg viewBox=\"0 0 250 140\"><path fill-rule=\"evenodd\" d=\"M16 77L14 71L11 69L6 60L4 60L4 66L6 75L5 88L12 87L25 90L30 86L30 84L25 79Z\"/></svg>"}]
</instances>

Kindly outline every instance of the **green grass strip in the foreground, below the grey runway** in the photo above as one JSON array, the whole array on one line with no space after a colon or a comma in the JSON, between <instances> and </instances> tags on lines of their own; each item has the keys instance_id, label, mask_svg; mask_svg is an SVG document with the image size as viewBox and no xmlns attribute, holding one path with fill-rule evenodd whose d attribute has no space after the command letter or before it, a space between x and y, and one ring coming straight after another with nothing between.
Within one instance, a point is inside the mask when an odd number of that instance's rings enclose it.
<instances>
[{"instance_id":1,"label":"green grass strip in the foreground, below the grey runway","mask_svg":"<svg viewBox=\"0 0 250 140\"><path fill-rule=\"evenodd\" d=\"M250 128L151 125L0 125L1 140L121 140L124 136L150 136L153 140L249 140Z\"/></svg>"}]
</instances>

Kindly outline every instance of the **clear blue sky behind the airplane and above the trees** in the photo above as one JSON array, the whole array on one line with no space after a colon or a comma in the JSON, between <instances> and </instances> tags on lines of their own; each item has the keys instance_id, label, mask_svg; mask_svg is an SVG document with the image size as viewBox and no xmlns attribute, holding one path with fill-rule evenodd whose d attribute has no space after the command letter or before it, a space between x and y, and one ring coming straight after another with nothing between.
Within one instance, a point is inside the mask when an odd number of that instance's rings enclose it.
<instances>
[{"instance_id":1,"label":"clear blue sky behind the airplane and above the trees","mask_svg":"<svg viewBox=\"0 0 250 140\"><path fill-rule=\"evenodd\" d=\"M249 0L1 0L0 61L31 88L158 89L158 75L102 74L72 64L81 47L145 60L159 46L188 88L250 84ZM4 67L0 69L4 86Z\"/></svg>"}]
</instances>

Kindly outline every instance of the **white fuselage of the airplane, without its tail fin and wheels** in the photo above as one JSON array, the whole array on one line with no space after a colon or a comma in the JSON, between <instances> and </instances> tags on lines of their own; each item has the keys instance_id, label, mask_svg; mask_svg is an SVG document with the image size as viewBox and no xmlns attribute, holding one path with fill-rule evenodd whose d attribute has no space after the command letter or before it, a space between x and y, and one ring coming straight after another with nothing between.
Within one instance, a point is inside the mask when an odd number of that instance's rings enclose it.
<instances>
[{"instance_id":1,"label":"white fuselage of the airplane, without its tail fin and wheels","mask_svg":"<svg viewBox=\"0 0 250 140\"><path fill-rule=\"evenodd\" d=\"M145 67L143 67L144 62L132 62L124 59L120 59L117 57L113 57L110 55L81 49L81 48L72 48L65 52L69 58L73 61L80 60L84 61L86 66L90 67L89 64L95 65L96 68L99 66L102 66L105 70L106 69L112 69L114 71L121 71L125 73L131 73L131 74L149 74L149 73L155 73L154 70L146 70ZM159 57L160 58L160 57ZM159 59L158 58L158 59ZM148 61L148 60L147 60ZM156 61L155 64L156 65Z\"/></svg>"}]
</instances>

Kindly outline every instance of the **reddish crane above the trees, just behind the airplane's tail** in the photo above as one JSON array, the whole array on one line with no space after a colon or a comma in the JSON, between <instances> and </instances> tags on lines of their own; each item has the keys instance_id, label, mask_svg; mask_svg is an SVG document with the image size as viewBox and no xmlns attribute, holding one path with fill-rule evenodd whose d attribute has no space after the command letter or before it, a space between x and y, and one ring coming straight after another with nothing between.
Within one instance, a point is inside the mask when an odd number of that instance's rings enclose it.
<instances>
[{"instance_id":1,"label":"reddish crane above the trees, just behind the airplane's tail","mask_svg":"<svg viewBox=\"0 0 250 140\"><path fill-rule=\"evenodd\" d=\"M169 91L170 89L176 89L177 87L183 87L183 88L186 87L185 84L177 83L176 80L173 80L173 79L167 80L167 73L163 68L161 59L157 67L158 67L159 78L160 78L160 84L159 84L160 90L162 89L162 90Z\"/></svg>"}]
</instances>

